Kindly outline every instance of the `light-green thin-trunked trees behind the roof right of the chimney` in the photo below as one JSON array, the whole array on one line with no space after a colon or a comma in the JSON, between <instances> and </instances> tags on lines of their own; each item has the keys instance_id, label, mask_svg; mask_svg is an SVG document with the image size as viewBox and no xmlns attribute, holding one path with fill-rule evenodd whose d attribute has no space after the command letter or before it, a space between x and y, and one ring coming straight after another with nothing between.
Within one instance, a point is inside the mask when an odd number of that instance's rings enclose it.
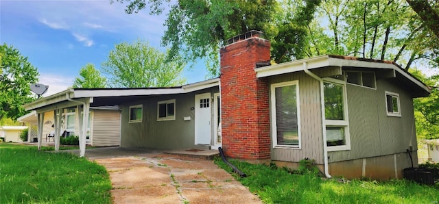
<instances>
[{"instance_id":1,"label":"light-green thin-trunked trees behind the roof right of the chimney","mask_svg":"<svg viewBox=\"0 0 439 204\"><path fill-rule=\"evenodd\" d=\"M308 57L336 54L388 60L405 70L414 62L439 62L439 38L405 1L323 1L317 16L309 24Z\"/></svg>"}]
</instances>

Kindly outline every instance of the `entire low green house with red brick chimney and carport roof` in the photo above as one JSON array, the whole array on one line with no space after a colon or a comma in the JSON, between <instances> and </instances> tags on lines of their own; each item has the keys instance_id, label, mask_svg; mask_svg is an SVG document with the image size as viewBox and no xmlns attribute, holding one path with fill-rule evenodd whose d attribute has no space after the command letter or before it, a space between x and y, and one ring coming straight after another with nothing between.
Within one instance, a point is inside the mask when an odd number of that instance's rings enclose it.
<instances>
[{"instance_id":1,"label":"entire low green house with red brick chimney and carport roof","mask_svg":"<svg viewBox=\"0 0 439 204\"><path fill-rule=\"evenodd\" d=\"M397 64L322 55L270 65L270 42L260 32L228 42L219 51L220 79L169 88L71 89L25 109L87 112L119 105L121 146L222 146L228 157L292 168L307 158L327 177L401 178L404 168L418 163L412 99L427 97L429 89Z\"/></svg>"}]
</instances>

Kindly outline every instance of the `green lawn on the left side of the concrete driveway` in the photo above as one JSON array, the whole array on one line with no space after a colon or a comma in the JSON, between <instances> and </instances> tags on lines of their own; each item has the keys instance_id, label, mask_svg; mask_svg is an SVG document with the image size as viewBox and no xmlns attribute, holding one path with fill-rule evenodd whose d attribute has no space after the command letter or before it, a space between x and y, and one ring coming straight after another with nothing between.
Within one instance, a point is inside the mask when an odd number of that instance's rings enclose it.
<instances>
[{"instance_id":1,"label":"green lawn on the left side of the concrete driveway","mask_svg":"<svg viewBox=\"0 0 439 204\"><path fill-rule=\"evenodd\" d=\"M69 153L0 143L0 203L111 203L106 169Z\"/></svg>"}]
</instances>

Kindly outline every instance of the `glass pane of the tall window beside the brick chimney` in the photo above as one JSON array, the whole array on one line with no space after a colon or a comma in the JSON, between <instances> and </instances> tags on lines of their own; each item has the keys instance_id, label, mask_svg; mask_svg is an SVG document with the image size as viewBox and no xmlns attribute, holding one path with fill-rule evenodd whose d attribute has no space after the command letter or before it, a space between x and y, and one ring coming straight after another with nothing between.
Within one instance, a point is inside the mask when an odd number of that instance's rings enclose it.
<instances>
[{"instance_id":1,"label":"glass pane of the tall window beside the brick chimney","mask_svg":"<svg viewBox=\"0 0 439 204\"><path fill-rule=\"evenodd\" d=\"M296 85L275 88L277 144L298 145Z\"/></svg>"}]
</instances>

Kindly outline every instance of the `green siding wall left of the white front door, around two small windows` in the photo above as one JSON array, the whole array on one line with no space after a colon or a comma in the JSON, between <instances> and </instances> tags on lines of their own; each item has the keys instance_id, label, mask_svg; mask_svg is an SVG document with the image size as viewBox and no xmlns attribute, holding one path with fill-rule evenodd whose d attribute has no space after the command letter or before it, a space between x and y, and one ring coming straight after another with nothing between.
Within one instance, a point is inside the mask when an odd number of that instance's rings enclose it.
<instances>
[{"instance_id":1,"label":"green siding wall left of the white front door, around two small windows","mask_svg":"<svg viewBox=\"0 0 439 204\"><path fill-rule=\"evenodd\" d=\"M195 106L195 94L206 92L211 92L213 97L213 93L219 90L209 88L187 94L168 94L121 105L121 146L156 149L195 147L195 110L191 110L191 107ZM176 100L176 119L157 121L157 102L171 99ZM139 104L143 104L143 121L128 123L129 106ZM191 116L191 120L183 120L185 116Z\"/></svg>"}]
</instances>

